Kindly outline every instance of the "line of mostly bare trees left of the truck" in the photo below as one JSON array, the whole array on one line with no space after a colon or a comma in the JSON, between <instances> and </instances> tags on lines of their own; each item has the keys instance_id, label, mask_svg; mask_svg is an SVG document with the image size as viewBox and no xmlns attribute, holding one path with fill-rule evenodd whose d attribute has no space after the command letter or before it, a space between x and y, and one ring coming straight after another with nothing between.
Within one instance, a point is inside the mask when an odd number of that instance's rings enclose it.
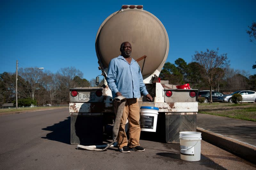
<instances>
[{"instance_id":1,"label":"line of mostly bare trees left of the truck","mask_svg":"<svg viewBox=\"0 0 256 170\"><path fill-rule=\"evenodd\" d=\"M95 80L89 82L81 77L83 77L83 73L75 67L61 68L57 73L43 72L36 68L19 68L18 102L19 99L27 98L32 101L34 99L37 105L68 104L70 88L94 87ZM15 79L16 73L0 74L0 105L15 104Z\"/></svg>"}]
</instances>

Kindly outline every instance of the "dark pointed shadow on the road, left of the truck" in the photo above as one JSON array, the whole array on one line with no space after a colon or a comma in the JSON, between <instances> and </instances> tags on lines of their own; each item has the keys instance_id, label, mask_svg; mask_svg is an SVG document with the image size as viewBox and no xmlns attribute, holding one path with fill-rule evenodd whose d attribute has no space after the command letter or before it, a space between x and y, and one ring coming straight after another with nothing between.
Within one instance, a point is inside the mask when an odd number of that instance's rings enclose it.
<instances>
[{"instance_id":1,"label":"dark pointed shadow on the road, left of the truck","mask_svg":"<svg viewBox=\"0 0 256 170\"><path fill-rule=\"evenodd\" d=\"M70 117L52 126L43 128L42 130L52 132L48 133L46 137L41 138L70 144Z\"/></svg>"}]
</instances>

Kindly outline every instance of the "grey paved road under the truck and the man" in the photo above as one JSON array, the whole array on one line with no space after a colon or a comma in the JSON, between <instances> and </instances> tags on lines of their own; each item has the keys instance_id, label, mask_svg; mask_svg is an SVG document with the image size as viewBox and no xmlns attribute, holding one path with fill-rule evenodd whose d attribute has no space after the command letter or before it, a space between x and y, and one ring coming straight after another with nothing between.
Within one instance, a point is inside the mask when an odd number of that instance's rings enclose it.
<instances>
[{"instance_id":1,"label":"grey paved road under the truck and the man","mask_svg":"<svg viewBox=\"0 0 256 170\"><path fill-rule=\"evenodd\" d=\"M142 133L145 152L76 150L69 144L68 108L0 116L0 169L255 169L256 166L204 141L201 160L180 159L180 145Z\"/></svg>"}]
</instances>

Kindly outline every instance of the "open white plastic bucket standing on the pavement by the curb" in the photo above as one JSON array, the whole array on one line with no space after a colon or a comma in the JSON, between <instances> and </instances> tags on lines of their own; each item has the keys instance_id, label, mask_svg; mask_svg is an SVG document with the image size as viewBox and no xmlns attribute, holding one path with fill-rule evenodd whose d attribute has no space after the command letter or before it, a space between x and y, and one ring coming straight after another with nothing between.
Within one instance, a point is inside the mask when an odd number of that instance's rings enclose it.
<instances>
[{"instance_id":1,"label":"open white plastic bucket standing on the pavement by the curb","mask_svg":"<svg viewBox=\"0 0 256 170\"><path fill-rule=\"evenodd\" d=\"M198 161L201 159L201 132L180 132L180 159Z\"/></svg>"}]
</instances>

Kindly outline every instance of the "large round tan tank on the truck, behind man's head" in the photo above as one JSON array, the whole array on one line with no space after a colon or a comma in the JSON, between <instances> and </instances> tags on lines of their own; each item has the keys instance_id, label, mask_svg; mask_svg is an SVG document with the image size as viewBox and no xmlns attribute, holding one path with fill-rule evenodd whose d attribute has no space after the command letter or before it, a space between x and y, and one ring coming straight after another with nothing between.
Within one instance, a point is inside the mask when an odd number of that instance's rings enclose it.
<instances>
[{"instance_id":1,"label":"large round tan tank on the truck, behind man's head","mask_svg":"<svg viewBox=\"0 0 256 170\"><path fill-rule=\"evenodd\" d=\"M143 79L161 72L169 51L167 32L150 12L143 9L122 9L114 12L101 24L95 41L100 65L108 68L112 58L118 57L120 45L128 41L132 45L132 58L147 56L142 72ZM142 69L143 60L138 64Z\"/></svg>"}]
</instances>

